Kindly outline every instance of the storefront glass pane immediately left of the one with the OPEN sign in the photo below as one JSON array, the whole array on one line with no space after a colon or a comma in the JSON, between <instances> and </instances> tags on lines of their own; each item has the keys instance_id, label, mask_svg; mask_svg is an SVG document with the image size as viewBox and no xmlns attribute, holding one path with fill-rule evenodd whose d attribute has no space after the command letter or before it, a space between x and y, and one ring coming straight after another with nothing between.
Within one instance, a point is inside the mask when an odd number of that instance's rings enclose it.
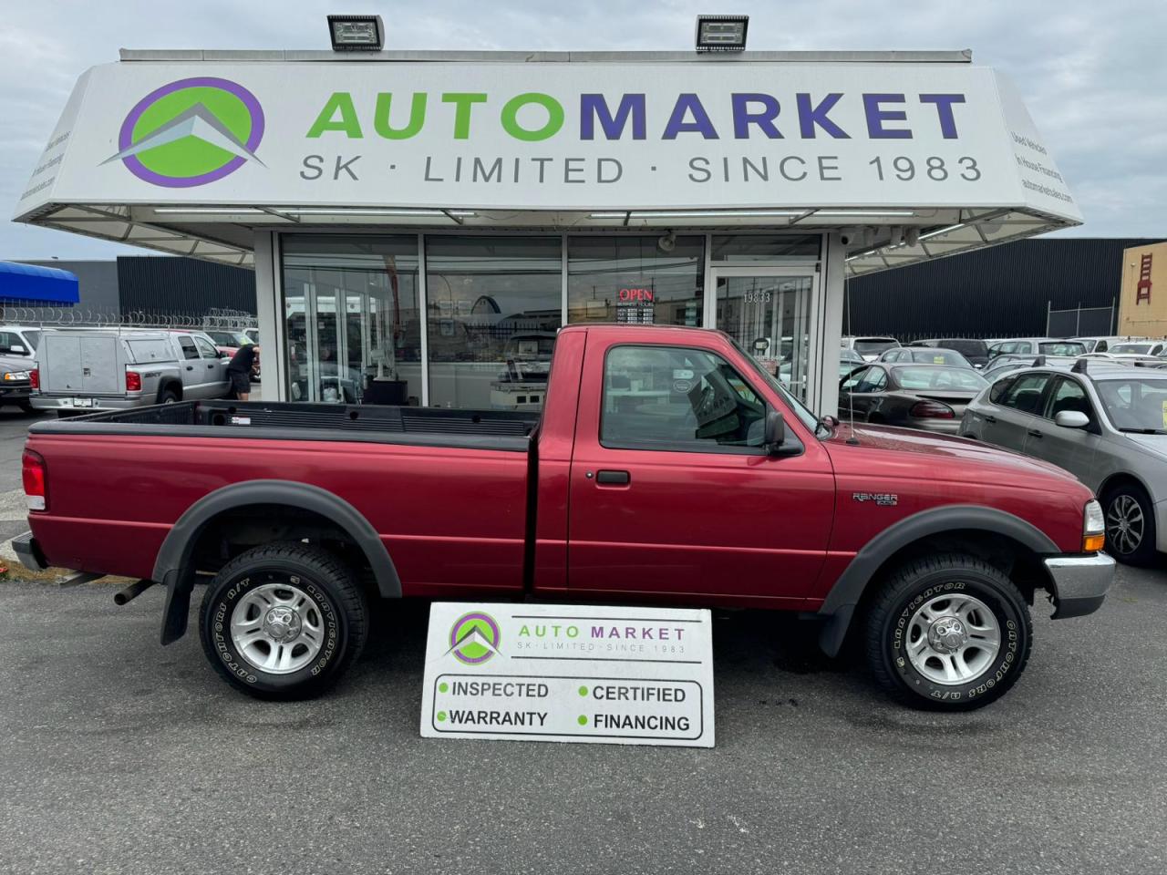
<instances>
[{"instance_id":1,"label":"storefront glass pane immediately left of the one with the OPEN sign","mask_svg":"<svg viewBox=\"0 0 1167 875\"><path fill-rule=\"evenodd\" d=\"M561 299L559 237L426 237L429 404L541 408Z\"/></svg>"}]
</instances>

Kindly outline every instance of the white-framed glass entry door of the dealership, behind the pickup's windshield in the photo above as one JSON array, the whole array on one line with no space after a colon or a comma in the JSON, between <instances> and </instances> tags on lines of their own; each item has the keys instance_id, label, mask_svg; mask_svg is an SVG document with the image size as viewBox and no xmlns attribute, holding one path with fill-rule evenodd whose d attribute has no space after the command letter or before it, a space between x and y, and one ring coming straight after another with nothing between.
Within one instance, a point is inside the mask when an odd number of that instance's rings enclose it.
<instances>
[{"instance_id":1,"label":"white-framed glass entry door of the dealership, behind the pickup's windshield","mask_svg":"<svg viewBox=\"0 0 1167 875\"><path fill-rule=\"evenodd\" d=\"M733 337L801 400L810 372L812 271L715 267L717 327Z\"/></svg>"}]
</instances>

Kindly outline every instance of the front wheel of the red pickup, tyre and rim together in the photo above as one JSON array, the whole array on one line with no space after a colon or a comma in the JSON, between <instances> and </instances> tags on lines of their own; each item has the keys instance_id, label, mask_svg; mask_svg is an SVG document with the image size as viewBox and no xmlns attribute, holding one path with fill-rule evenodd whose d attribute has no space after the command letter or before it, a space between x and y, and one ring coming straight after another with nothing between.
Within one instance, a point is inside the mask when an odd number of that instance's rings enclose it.
<instances>
[{"instance_id":1,"label":"front wheel of the red pickup, tyre and rim together","mask_svg":"<svg viewBox=\"0 0 1167 875\"><path fill-rule=\"evenodd\" d=\"M867 663L915 708L972 710L1012 687L1029 659L1033 622L1005 574L959 553L909 562L867 614Z\"/></svg>"}]
</instances>

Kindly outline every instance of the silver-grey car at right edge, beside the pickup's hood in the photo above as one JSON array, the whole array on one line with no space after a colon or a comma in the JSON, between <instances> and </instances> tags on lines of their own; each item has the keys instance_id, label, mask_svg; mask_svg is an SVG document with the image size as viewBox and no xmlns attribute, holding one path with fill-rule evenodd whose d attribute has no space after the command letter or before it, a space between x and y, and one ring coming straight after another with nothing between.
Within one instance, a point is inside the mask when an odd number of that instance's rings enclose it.
<instances>
[{"instance_id":1,"label":"silver-grey car at right edge, beside the pickup's hood","mask_svg":"<svg viewBox=\"0 0 1167 875\"><path fill-rule=\"evenodd\" d=\"M1167 371L1100 359L1014 371L967 406L960 434L1095 490L1116 559L1145 565L1167 551Z\"/></svg>"}]
</instances>

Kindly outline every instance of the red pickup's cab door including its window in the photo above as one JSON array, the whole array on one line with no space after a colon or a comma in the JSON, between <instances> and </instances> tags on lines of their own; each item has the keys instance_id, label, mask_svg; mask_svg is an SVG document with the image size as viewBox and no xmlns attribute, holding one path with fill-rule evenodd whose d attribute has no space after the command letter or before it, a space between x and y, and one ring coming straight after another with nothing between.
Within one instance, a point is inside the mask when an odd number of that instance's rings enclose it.
<instances>
[{"instance_id":1,"label":"red pickup's cab door including its window","mask_svg":"<svg viewBox=\"0 0 1167 875\"><path fill-rule=\"evenodd\" d=\"M831 532L825 449L728 342L641 337L588 338L568 475L568 590L796 607ZM797 455L763 448L771 410L785 415Z\"/></svg>"}]
</instances>

